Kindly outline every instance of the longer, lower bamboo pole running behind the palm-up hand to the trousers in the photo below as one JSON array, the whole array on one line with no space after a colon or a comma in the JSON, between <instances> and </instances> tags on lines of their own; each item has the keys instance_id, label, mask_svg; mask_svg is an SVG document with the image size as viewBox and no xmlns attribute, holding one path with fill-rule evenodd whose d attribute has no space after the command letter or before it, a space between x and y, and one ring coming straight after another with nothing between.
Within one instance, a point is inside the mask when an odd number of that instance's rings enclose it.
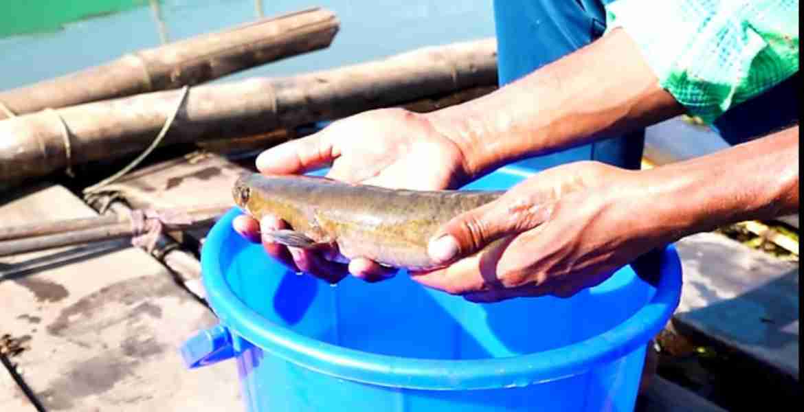
<instances>
[{"instance_id":1,"label":"longer, lower bamboo pole running behind the palm-up hand to the trousers","mask_svg":"<svg viewBox=\"0 0 804 412\"><path fill-rule=\"evenodd\" d=\"M497 84L494 39L425 47L287 78L253 78L0 120L0 184L142 151L182 103L162 145L243 137ZM69 153L69 154L68 154Z\"/></svg>"}]
</instances>

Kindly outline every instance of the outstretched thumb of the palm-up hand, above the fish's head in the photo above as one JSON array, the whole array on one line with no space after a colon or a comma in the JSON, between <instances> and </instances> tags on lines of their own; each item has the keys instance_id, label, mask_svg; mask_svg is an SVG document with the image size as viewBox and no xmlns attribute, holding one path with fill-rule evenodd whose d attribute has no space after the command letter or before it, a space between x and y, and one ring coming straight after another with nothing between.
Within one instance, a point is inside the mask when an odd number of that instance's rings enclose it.
<instances>
[{"instance_id":1,"label":"outstretched thumb of the palm-up hand, above the fish's head","mask_svg":"<svg viewBox=\"0 0 804 412\"><path fill-rule=\"evenodd\" d=\"M326 129L288 141L260 153L256 168L266 174L301 174L326 165L338 157Z\"/></svg>"}]
</instances>

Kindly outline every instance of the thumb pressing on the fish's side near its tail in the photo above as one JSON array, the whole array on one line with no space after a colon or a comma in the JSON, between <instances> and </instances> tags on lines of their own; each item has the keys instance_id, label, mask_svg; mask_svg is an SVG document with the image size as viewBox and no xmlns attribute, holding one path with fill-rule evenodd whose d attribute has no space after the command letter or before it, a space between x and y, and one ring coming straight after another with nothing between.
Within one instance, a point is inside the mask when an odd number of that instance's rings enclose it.
<instances>
[{"instance_id":1,"label":"thumb pressing on the fish's side near its tail","mask_svg":"<svg viewBox=\"0 0 804 412\"><path fill-rule=\"evenodd\" d=\"M428 244L428 255L437 263L472 255L494 240L539 226L551 210L551 205L512 202L503 196L441 226Z\"/></svg>"}]
</instances>

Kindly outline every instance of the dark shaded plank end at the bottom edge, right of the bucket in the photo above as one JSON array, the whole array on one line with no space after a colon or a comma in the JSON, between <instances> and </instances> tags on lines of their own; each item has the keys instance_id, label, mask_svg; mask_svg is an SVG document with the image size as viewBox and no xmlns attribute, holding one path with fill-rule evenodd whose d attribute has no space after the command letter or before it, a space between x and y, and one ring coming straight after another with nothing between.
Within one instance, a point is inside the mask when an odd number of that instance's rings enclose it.
<instances>
[{"instance_id":1,"label":"dark shaded plank end at the bottom edge, right of the bucket","mask_svg":"<svg viewBox=\"0 0 804 412\"><path fill-rule=\"evenodd\" d=\"M634 412L725 412L725 410L667 379L654 377L645 394L637 399Z\"/></svg>"}]
</instances>

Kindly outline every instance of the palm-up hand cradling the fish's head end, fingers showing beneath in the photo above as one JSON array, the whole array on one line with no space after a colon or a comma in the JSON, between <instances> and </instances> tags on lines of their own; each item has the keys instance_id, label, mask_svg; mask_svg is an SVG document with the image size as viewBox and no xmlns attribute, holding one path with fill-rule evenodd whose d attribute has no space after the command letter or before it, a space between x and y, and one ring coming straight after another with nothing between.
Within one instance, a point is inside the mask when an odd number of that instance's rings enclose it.
<instances>
[{"instance_id":1,"label":"palm-up hand cradling the fish's head end, fingers showing beneath","mask_svg":"<svg viewBox=\"0 0 804 412\"><path fill-rule=\"evenodd\" d=\"M338 120L322 131L268 149L256 159L260 173L301 174L330 165L326 177L392 189L442 190L468 182L466 159L459 146L433 127L426 115L401 108L362 112ZM235 230L293 271L335 284L348 273L369 282L396 271L368 259L348 264L331 261L337 251L314 253L260 238L260 231L288 228L276 217L262 222L241 215Z\"/></svg>"}]
</instances>

